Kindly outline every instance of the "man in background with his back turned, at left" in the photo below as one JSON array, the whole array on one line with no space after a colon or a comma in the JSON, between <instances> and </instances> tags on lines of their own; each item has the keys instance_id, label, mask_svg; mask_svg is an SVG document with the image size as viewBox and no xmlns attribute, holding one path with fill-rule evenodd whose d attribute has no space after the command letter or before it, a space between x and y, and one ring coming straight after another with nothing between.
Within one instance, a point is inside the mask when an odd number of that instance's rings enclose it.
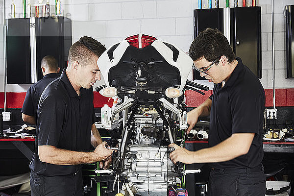
<instances>
[{"instance_id":1,"label":"man in background with his back turned, at left","mask_svg":"<svg viewBox=\"0 0 294 196\"><path fill-rule=\"evenodd\" d=\"M21 110L23 121L30 124L36 124L40 97L46 86L59 76L60 68L58 67L57 60L53 56L48 55L42 58L41 70L44 77L28 88Z\"/></svg>"}]
</instances>

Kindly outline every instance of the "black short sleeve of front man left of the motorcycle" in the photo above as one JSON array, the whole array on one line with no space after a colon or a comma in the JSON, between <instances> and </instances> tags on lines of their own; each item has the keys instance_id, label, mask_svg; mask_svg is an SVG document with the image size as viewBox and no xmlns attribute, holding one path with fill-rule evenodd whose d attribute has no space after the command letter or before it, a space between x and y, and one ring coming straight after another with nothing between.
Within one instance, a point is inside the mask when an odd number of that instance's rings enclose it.
<instances>
[{"instance_id":1,"label":"black short sleeve of front man left of the motorcycle","mask_svg":"<svg viewBox=\"0 0 294 196\"><path fill-rule=\"evenodd\" d=\"M50 95L41 97L38 108L37 130L38 145L57 147L66 116L65 103Z\"/></svg>"}]
</instances>

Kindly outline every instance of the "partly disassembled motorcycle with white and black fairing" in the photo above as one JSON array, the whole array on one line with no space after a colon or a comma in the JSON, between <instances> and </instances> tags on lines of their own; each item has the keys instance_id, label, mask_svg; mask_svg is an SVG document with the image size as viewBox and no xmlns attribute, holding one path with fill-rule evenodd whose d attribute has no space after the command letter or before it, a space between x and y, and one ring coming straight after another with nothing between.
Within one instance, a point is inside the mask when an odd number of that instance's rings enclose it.
<instances>
[{"instance_id":1,"label":"partly disassembled motorcycle with white and black fairing","mask_svg":"<svg viewBox=\"0 0 294 196\"><path fill-rule=\"evenodd\" d=\"M125 85L124 87L133 87L131 85L134 84L136 87L140 84L134 82L136 77L140 78L144 74L144 77L151 78L146 85L160 87L162 92L174 86L181 91L184 89L193 66L193 60L184 51L158 40L142 49L140 44L139 49L131 47L133 46L124 40L112 45L98 58L97 64L107 87L110 87L109 84L115 80L120 81L120 84ZM148 61L150 59L152 61ZM138 64L143 68L137 66ZM175 83L173 83L174 80L176 80ZM128 84L131 85L127 86ZM123 128L120 128L122 135L119 136L121 138L118 142L119 156L113 165L116 171L120 171L117 175L126 179L126 186L130 182L136 187L137 192L134 194L167 196L168 188L176 185L176 178L180 176L179 171L182 170L182 166L177 167L170 160L166 141L173 143L177 131L187 128L187 114L183 109L177 108L175 106L177 104L172 104L178 103L178 98L166 99L163 94L159 94L162 96L160 97L155 93L142 96L140 94L142 90L137 90L139 93L132 95L127 92L129 97L125 96L125 92L118 94L125 97L116 110L112 111L110 121L112 125L109 131L113 131L116 127ZM148 95L146 100L145 95ZM122 111L121 119L119 117L113 120L117 111ZM166 123L172 121L177 122L176 126ZM113 126L113 124L119 124L119 126Z\"/></svg>"}]
</instances>

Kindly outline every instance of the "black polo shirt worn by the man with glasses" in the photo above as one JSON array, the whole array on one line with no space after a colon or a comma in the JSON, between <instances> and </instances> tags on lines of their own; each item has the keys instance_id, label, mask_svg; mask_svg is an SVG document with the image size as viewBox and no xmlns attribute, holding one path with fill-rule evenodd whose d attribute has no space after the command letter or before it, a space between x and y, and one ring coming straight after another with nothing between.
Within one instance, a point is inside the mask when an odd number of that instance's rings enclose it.
<instances>
[{"instance_id":1,"label":"black polo shirt worn by the man with glasses","mask_svg":"<svg viewBox=\"0 0 294 196\"><path fill-rule=\"evenodd\" d=\"M216 169L253 168L263 159L262 133L265 91L259 79L242 60L223 87L215 84L210 111L209 147L216 146L234 133L255 133L247 154L230 161L212 163Z\"/></svg>"}]
</instances>

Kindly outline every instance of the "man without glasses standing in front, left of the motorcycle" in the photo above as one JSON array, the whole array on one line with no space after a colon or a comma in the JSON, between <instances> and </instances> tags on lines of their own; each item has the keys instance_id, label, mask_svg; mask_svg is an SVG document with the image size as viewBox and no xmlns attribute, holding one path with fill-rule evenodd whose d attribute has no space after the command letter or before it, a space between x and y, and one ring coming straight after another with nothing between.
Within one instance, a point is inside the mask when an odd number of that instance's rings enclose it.
<instances>
[{"instance_id":1,"label":"man without glasses standing in front, left of the motorcycle","mask_svg":"<svg viewBox=\"0 0 294 196\"><path fill-rule=\"evenodd\" d=\"M82 165L99 161L109 168L112 150L95 126L93 102L97 60L105 50L97 40L81 37L69 50L68 67L42 93L30 163L32 196L83 196Z\"/></svg>"}]
</instances>

